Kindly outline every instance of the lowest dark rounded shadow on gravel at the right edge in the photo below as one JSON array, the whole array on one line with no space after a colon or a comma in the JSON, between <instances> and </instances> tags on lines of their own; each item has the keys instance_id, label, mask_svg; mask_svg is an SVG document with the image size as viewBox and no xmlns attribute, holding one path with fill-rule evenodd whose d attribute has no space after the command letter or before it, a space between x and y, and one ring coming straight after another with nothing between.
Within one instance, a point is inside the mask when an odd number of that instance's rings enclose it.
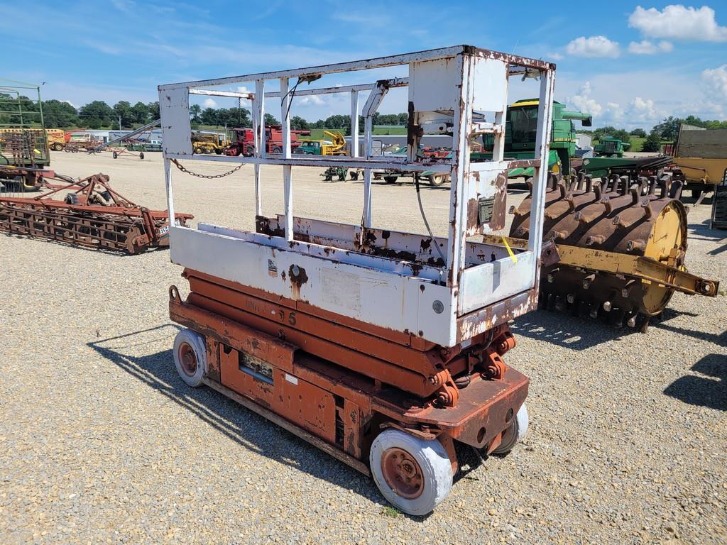
<instances>
[{"instance_id":1,"label":"lowest dark rounded shadow on gravel at the right edge","mask_svg":"<svg viewBox=\"0 0 727 545\"><path fill-rule=\"evenodd\" d=\"M724 354L709 354L694 364L692 371L664 389L664 394L689 405L699 405L727 411L727 358Z\"/></svg>"}]
</instances>

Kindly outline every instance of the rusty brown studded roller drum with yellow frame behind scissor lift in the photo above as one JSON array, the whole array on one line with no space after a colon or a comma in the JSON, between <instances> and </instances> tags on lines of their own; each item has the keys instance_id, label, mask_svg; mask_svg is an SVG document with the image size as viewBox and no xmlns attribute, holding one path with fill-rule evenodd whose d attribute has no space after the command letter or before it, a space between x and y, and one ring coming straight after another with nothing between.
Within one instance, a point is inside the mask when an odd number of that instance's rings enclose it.
<instances>
[{"instance_id":1,"label":"rusty brown studded roller drum with yellow frame behind scissor lift","mask_svg":"<svg viewBox=\"0 0 727 545\"><path fill-rule=\"evenodd\" d=\"M543 235L555 241L560 261L542 267L541 306L645 331L675 291L715 296L717 281L684 266L682 187L669 173L636 179L581 173L570 182L550 177ZM511 210L514 238L528 235L531 198Z\"/></svg>"}]
</instances>

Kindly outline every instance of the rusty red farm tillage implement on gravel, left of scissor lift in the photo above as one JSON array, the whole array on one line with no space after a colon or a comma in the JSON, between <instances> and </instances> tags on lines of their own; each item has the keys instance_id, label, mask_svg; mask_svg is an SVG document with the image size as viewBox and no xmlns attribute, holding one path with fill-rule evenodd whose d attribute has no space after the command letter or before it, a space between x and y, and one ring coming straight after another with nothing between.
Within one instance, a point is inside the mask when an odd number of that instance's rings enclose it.
<instances>
[{"instance_id":1,"label":"rusty red farm tillage implement on gravel, left of scissor lift","mask_svg":"<svg viewBox=\"0 0 727 545\"><path fill-rule=\"evenodd\" d=\"M56 181L62 183L46 182L49 193L35 198L0 198L0 231L129 254L169 245L169 214L129 201L105 174ZM174 214L174 224L192 218Z\"/></svg>"}]
</instances>

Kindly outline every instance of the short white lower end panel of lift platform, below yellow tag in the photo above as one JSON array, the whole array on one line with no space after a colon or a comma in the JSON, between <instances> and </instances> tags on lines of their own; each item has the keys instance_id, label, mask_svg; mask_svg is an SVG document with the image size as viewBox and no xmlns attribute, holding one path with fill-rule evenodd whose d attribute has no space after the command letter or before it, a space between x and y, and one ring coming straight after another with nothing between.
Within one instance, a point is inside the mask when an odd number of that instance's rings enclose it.
<instances>
[{"instance_id":1,"label":"short white lower end panel of lift platform, below yellow tag","mask_svg":"<svg viewBox=\"0 0 727 545\"><path fill-rule=\"evenodd\" d=\"M515 261L517 259L517 261ZM531 251L515 258L505 257L491 263L469 267L459 280L460 316L531 289L531 273L536 266Z\"/></svg>"}]
</instances>

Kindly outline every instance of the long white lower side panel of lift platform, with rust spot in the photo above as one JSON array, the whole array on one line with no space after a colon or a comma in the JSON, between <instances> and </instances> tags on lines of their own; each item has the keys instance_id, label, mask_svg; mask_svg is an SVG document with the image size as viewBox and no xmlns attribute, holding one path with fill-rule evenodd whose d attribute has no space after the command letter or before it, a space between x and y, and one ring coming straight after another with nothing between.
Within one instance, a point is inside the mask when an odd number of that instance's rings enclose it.
<instances>
[{"instance_id":1,"label":"long white lower side panel of lift platform, with rust spot","mask_svg":"<svg viewBox=\"0 0 727 545\"><path fill-rule=\"evenodd\" d=\"M177 265L451 346L446 286L188 227L170 236Z\"/></svg>"}]
</instances>

